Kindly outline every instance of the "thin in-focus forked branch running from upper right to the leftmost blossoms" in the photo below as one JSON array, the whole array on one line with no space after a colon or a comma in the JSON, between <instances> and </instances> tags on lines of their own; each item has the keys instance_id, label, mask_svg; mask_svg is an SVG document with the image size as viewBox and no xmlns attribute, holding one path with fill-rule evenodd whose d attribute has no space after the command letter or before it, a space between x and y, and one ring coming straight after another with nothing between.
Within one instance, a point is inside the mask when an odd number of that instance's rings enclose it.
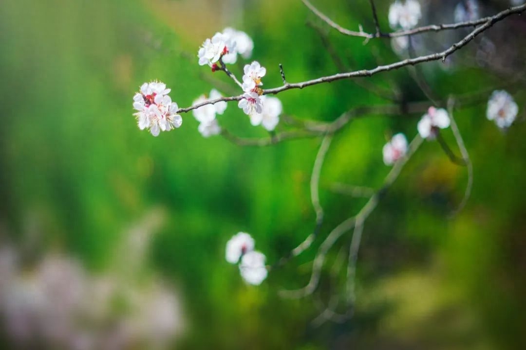
<instances>
[{"instance_id":1,"label":"thin in-focus forked branch running from upper right to the leftmost blossoms","mask_svg":"<svg viewBox=\"0 0 526 350\"><path fill-rule=\"evenodd\" d=\"M302 1L304 1L304 3L306 2L306 0L302 0ZM416 33L421 33L423 31L431 31L431 30L439 31L443 29L454 29L454 28L460 28L460 27L478 26L474 30L472 30L471 33L469 33L462 40L458 41L457 43L454 43L448 49L441 51L441 52L436 52L434 54L419 56L419 57L411 58L411 59L405 59L402 61L391 63L390 65L377 66L376 68L373 68L373 69L362 69L362 70L356 70L356 71L351 71L351 72L337 73L335 75L320 77L317 79L311 79L311 80L302 81L298 83L284 83L280 87L263 90L263 94L277 94L277 93L280 93L286 90L290 90L290 89L303 89L308 86L337 81L341 79L370 77L380 72L400 69L402 67L406 67L409 65L414 66L414 65L417 65L423 62L438 61L438 60L442 60L442 62L444 62L448 56L450 56L451 54L453 54L453 52L459 50L460 48L466 46L471 40L473 40L475 37L481 34L484 30L487 30L488 28L492 27L495 23L500 22L504 18L507 18L514 14L523 13L525 10L526 10L526 4L521 5L521 6L511 7L507 10L503 10L502 12L499 12L498 14L494 16L485 17L485 18L482 18L476 21L457 23L453 25L420 27L420 28L412 29L412 31L408 30L408 31L400 31L400 32L391 33L391 34L388 34L389 37L412 35ZM437 28L437 29L423 30L423 28ZM353 33L358 33L358 35L355 35L355 36L362 36L362 37L368 37L368 35L370 35L370 34L363 33L363 32L353 32ZM231 73L229 76L234 77L233 75L231 75ZM239 84L239 81L236 81L236 83ZM239 101L241 99L242 99L242 95L231 96L231 97L221 97L221 98L214 99L214 100L200 102L200 103L194 104L187 108L179 108L177 110L177 113L186 113L196 108L203 107L204 105L207 105L207 104L214 104L214 103L221 102L221 101L225 101L225 102Z\"/></svg>"}]
</instances>

